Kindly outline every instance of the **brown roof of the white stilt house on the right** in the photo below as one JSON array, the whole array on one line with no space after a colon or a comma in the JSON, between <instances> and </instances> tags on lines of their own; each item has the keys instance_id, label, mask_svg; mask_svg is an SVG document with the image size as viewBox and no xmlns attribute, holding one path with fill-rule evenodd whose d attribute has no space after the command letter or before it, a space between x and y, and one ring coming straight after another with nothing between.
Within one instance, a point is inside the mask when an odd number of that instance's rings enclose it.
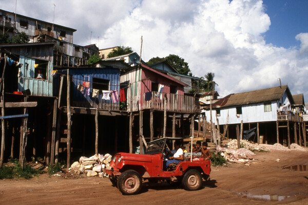
<instances>
[{"instance_id":1,"label":"brown roof of the white stilt house on the right","mask_svg":"<svg viewBox=\"0 0 308 205\"><path fill-rule=\"evenodd\" d=\"M260 90L252 90L248 92L240 92L238 94L229 94L228 96L213 103L212 107L228 107L280 100L284 92L286 92L290 103L294 104L294 99L291 95L290 89L287 85L282 85L281 87L277 86Z\"/></svg>"}]
</instances>

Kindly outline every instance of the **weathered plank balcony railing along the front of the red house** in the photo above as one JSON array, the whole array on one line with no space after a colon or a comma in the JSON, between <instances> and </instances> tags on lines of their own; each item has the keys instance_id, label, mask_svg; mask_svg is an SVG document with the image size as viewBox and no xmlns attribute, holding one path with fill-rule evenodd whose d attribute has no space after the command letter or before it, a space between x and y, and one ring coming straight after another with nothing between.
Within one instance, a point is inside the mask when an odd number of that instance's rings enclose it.
<instances>
[{"instance_id":1,"label":"weathered plank balcony railing along the front of the red house","mask_svg":"<svg viewBox=\"0 0 308 205\"><path fill-rule=\"evenodd\" d=\"M192 96L183 96L169 93L159 93L157 91L151 92L152 96L150 100L145 100L145 94L143 94L143 102L141 109L155 109L164 110L164 96L166 97L166 110L175 111L180 113L194 113L199 110L199 107L195 106L195 98Z\"/></svg>"}]
</instances>

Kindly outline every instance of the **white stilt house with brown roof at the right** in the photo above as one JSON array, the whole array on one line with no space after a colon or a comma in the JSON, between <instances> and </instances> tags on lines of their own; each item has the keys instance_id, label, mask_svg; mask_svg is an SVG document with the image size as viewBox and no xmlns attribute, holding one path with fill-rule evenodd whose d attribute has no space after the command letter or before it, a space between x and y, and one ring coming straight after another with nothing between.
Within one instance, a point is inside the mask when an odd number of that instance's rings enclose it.
<instances>
[{"instance_id":1,"label":"white stilt house with brown roof at the right","mask_svg":"<svg viewBox=\"0 0 308 205\"><path fill-rule=\"evenodd\" d=\"M211 106L221 133L226 132L228 137L237 136L236 129L242 122L243 130L256 127L256 136L251 138L255 142L278 142L289 147L291 143L306 145L307 120L292 109L296 103L287 85L230 94ZM210 119L209 110L209 105L202 109L207 121ZM213 122L216 122L214 118Z\"/></svg>"}]
</instances>

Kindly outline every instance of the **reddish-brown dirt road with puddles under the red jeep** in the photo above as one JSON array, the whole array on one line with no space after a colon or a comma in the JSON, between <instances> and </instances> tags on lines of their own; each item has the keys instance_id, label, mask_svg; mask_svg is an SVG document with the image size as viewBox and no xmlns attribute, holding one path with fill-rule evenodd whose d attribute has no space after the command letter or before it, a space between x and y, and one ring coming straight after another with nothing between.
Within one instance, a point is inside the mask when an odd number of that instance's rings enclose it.
<instances>
[{"instance_id":1,"label":"reddish-brown dirt road with puddles under the red jeep","mask_svg":"<svg viewBox=\"0 0 308 205\"><path fill-rule=\"evenodd\" d=\"M279 162L275 161L277 158ZM307 165L307 166L299 166ZM283 169L289 166L291 169ZM296 168L297 171L292 170ZM280 201L263 201L260 197ZM138 195L124 196L107 178L65 179L47 174L0 180L0 204L308 204L308 152L256 153L251 166L212 167L210 181L188 192L145 181Z\"/></svg>"}]
</instances>

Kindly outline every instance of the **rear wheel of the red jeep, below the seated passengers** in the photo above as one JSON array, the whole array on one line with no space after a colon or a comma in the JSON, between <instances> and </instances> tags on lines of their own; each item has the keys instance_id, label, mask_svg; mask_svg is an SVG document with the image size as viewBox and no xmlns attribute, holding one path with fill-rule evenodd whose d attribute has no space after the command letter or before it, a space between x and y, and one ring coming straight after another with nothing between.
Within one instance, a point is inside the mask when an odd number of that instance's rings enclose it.
<instances>
[{"instance_id":1,"label":"rear wheel of the red jeep, below the seated passengers","mask_svg":"<svg viewBox=\"0 0 308 205\"><path fill-rule=\"evenodd\" d=\"M194 191L202 186L202 177L198 170L188 170L182 179L182 185L185 190Z\"/></svg>"}]
</instances>

